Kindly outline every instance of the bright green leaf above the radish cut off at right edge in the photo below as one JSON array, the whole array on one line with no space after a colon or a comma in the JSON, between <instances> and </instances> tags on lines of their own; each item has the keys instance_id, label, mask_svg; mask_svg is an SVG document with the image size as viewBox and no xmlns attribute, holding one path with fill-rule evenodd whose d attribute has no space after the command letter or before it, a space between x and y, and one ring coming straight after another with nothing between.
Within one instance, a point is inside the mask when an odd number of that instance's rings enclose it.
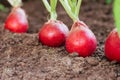
<instances>
[{"instance_id":1,"label":"bright green leaf above the radish cut off at right edge","mask_svg":"<svg viewBox=\"0 0 120 80\"><path fill-rule=\"evenodd\" d=\"M120 0L114 1L113 13L114 13L115 26L118 30L118 33L120 34Z\"/></svg>"}]
</instances>

